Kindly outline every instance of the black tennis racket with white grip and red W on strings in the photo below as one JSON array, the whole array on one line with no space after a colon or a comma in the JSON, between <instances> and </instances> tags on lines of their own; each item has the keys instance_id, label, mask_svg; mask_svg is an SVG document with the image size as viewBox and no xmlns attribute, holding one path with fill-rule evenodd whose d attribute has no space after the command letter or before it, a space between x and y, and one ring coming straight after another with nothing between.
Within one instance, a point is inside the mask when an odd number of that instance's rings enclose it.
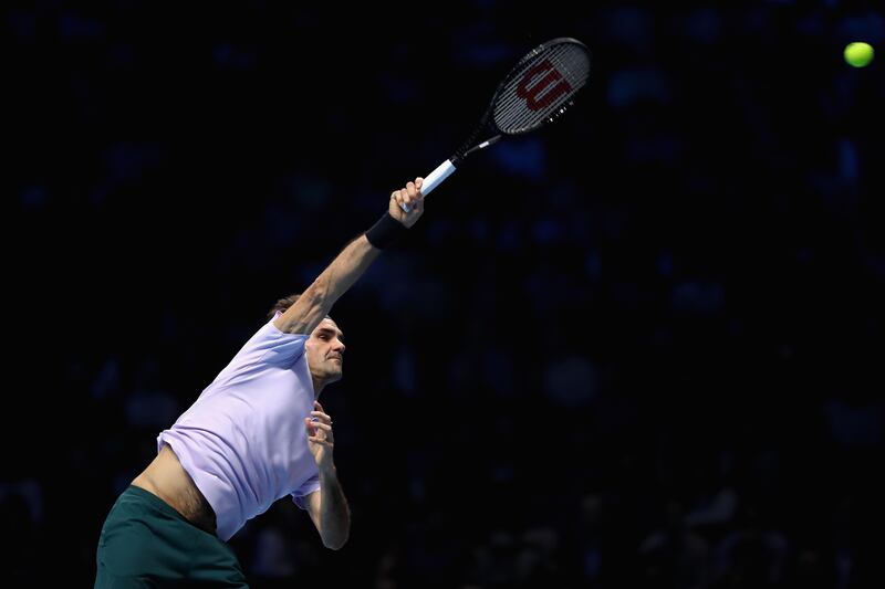
<instances>
[{"instance_id":1,"label":"black tennis racket with white grip and red W on strings","mask_svg":"<svg viewBox=\"0 0 885 589\"><path fill-rule=\"evenodd\" d=\"M587 77L590 51L576 39L553 39L531 50L498 85L470 138L424 179L421 196L427 197L470 155L503 136L523 135L559 119ZM487 138L477 143L481 137ZM406 203L400 207L410 210Z\"/></svg>"}]
</instances>

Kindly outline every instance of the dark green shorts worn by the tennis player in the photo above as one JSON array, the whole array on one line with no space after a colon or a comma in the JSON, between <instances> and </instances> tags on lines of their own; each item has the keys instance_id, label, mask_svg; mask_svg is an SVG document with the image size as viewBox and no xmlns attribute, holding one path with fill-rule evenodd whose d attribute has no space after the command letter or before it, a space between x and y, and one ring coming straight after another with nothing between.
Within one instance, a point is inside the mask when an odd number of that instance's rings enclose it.
<instances>
[{"instance_id":1,"label":"dark green shorts worn by the tennis player","mask_svg":"<svg viewBox=\"0 0 885 589\"><path fill-rule=\"evenodd\" d=\"M233 550L129 485L102 527L95 587L248 587Z\"/></svg>"}]
</instances>

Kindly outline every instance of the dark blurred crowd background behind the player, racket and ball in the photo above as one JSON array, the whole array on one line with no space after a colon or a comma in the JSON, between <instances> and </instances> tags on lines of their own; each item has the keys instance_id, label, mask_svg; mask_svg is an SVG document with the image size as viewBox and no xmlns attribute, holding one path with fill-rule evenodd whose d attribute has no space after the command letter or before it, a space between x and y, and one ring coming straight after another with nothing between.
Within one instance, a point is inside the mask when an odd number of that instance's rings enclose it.
<instances>
[{"instance_id":1,"label":"dark blurred crowd background behind the player, racket and ball","mask_svg":"<svg viewBox=\"0 0 885 589\"><path fill-rule=\"evenodd\" d=\"M882 2L2 14L4 586L91 586L157 433L575 36L563 122L472 159L333 309L350 543L281 501L231 540L249 579L885 587Z\"/></svg>"}]
</instances>

